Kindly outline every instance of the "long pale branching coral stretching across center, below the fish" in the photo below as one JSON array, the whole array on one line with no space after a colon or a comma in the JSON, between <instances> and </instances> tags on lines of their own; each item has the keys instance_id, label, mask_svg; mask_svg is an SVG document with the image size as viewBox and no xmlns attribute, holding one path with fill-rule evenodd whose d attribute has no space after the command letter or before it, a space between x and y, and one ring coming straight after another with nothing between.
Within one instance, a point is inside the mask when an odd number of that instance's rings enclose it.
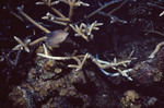
<instances>
[{"instance_id":1,"label":"long pale branching coral stretching across center, below the fish","mask_svg":"<svg viewBox=\"0 0 164 108\"><path fill-rule=\"evenodd\" d=\"M52 59L52 60L70 60L70 59L74 59L78 62L78 65L75 64L69 64L68 68L75 68L75 71L79 71L82 69L82 67L84 65L86 59L91 59L98 68L99 70L108 76L118 76L118 75L122 75L125 77L127 77L129 81L132 81L132 79L130 76L128 76L128 72L132 71L132 69L127 69L127 70L120 70L119 68L117 68L118 65L124 65L127 67L126 63L130 63L131 60L136 60L137 58L131 58L132 53L130 53L129 58L127 60L121 60L121 61L117 61L117 59L114 59L114 62L108 62L108 61L103 61L99 60L98 57L94 57L91 53L86 53L85 56L74 56L74 57L52 57L52 56L48 56L47 53L47 48L45 45L43 45L44 47L44 53L37 53L37 56L47 58L47 59ZM81 61L79 58L83 58L83 60ZM108 69L112 68L114 70L117 70L118 72L116 73L108 73L106 72L104 69Z\"/></svg>"}]
</instances>

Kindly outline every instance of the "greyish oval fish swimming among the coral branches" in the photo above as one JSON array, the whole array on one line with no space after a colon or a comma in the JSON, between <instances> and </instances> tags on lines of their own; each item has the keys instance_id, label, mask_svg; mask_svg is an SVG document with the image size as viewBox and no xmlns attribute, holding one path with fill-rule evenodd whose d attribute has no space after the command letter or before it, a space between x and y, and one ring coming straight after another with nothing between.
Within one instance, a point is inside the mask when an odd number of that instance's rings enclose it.
<instances>
[{"instance_id":1,"label":"greyish oval fish swimming among the coral branches","mask_svg":"<svg viewBox=\"0 0 164 108\"><path fill-rule=\"evenodd\" d=\"M47 34L46 45L48 45L48 46L59 45L62 41L65 41L65 39L67 38L68 35L69 35L69 33L67 33L62 29L54 31L54 32Z\"/></svg>"}]
</instances>

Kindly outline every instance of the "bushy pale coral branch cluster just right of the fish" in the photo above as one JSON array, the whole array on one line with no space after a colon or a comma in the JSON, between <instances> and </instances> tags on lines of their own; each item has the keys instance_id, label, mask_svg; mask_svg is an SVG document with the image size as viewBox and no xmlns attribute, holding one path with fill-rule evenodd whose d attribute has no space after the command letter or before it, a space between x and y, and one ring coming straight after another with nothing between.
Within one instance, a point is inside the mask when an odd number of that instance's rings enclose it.
<instances>
[{"instance_id":1,"label":"bushy pale coral branch cluster just right of the fish","mask_svg":"<svg viewBox=\"0 0 164 108\"><path fill-rule=\"evenodd\" d=\"M81 23L80 26L78 26L77 24L74 26L70 24L71 28L77 33L74 36L82 36L85 40L89 40L90 38L92 39L93 38L92 31L99 29L97 26L101 26L101 25L103 25L103 23L97 23L97 21L87 25L84 23Z\"/></svg>"}]
</instances>

